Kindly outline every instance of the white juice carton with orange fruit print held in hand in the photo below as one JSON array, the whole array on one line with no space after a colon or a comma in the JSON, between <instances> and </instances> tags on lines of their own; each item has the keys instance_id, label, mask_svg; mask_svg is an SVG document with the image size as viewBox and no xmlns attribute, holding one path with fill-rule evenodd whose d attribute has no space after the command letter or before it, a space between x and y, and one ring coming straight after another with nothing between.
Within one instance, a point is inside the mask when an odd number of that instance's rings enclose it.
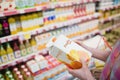
<instances>
[{"instance_id":1,"label":"white juice carton with orange fruit print held in hand","mask_svg":"<svg viewBox=\"0 0 120 80\"><path fill-rule=\"evenodd\" d=\"M66 64L72 69L82 67L80 59L84 59L86 63L90 61L92 54L83 47L68 39L64 35L53 37L46 45L49 53L57 60Z\"/></svg>"}]
</instances>

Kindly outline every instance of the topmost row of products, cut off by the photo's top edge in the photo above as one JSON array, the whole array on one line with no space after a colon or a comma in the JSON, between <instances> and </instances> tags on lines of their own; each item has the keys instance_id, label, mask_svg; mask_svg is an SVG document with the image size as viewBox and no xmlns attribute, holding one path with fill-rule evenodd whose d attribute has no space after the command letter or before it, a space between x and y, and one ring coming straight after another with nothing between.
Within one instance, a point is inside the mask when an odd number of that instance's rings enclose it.
<instances>
[{"instance_id":1,"label":"topmost row of products, cut off by the photo's top edge","mask_svg":"<svg viewBox=\"0 0 120 80\"><path fill-rule=\"evenodd\" d=\"M1 11L10 11L15 9L24 9L31 8L36 6L53 6L56 3L62 5L63 3L73 2L72 0L8 0L0 2L0 12ZM84 3L86 0L75 0L74 3ZM90 0L93 2L93 0Z\"/></svg>"}]
</instances>

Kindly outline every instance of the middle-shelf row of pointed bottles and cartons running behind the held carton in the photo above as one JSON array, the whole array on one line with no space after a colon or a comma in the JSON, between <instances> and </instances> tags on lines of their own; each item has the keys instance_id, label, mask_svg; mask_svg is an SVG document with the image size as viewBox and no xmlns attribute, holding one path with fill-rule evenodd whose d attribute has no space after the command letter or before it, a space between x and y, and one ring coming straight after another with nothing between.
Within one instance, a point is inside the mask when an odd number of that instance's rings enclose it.
<instances>
[{"instance_id":1,"label":"middle-shelf row of pointed bottles and cartons running behind the held carton","mask_svg":"<svg viewBox=\"0 0 120 80\"><path fill-rule=\"evenodd\" d=\"M8 61L13 61L15 58L20 58L22 56L36 53L37 51L45 49L46 43L52 36L64 34L69 38L73 38L75 36L92 32L96 29L98 29L97 19L86 23L79 23L76 25L60 28L40 35L32 35L28 40L26 40L23 35L19 36L13 41L7 40L6 42L1 43L1 64L4 64Z\"/></svg>"}]
</instances>

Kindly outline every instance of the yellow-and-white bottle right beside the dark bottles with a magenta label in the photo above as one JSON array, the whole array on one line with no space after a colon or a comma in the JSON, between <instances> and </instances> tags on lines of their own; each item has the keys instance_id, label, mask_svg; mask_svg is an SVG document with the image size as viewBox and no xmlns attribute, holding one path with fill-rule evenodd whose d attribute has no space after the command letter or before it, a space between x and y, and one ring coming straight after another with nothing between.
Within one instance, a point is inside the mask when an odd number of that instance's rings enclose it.
<instances>
[{"instance_id":1,"label":"yellow-and-white bottle right beside the dark bottles with a magenta label","mask_svg":"<svg viewBox=\"0 0 120 80\"><path fill-rule=\"evenodd\" d=\"M9 26L10 26L10 32L11 34L17 34L17 27L16 27L16 21L15 18L10 17L8 18Z\"/></svg>"}]
</instances>

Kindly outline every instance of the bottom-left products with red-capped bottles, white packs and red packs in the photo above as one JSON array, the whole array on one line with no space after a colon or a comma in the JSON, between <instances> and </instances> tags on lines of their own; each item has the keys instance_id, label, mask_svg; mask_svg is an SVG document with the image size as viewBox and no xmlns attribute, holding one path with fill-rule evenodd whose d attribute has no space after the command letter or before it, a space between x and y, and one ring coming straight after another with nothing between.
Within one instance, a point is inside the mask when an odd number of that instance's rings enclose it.
<instances>
[{"instance_id":1,"label":"bottom-left products with red-capped bottles, white packs and red packs","mask_svg":"<svg viewBox=\"0 0 120 80\"><path fill-rule=\"evenodd\" d=\"M67 80L66 66L50 55L34 59L0 71L0 80ZM72 76L71 76L72 78Z\"/></svg>"}]
</instances>

